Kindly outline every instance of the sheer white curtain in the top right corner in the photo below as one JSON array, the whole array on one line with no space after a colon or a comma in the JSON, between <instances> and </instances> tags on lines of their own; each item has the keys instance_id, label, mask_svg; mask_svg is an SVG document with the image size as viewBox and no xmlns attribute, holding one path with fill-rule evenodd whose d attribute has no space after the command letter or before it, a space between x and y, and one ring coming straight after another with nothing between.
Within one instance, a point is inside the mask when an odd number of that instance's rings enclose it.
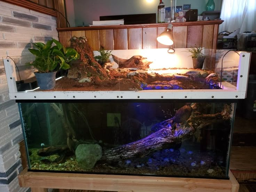
<instances>
[{"instance_id":1,"label":"sheer white curtain in the top right corner","mask_svg":"<svg viewBox=\"0 0 256 192\"><path fill-rule=\"evenodd\" d=\"M223 0L219 32L256 30L256 0Z\"/></svg>"}]
</instances>

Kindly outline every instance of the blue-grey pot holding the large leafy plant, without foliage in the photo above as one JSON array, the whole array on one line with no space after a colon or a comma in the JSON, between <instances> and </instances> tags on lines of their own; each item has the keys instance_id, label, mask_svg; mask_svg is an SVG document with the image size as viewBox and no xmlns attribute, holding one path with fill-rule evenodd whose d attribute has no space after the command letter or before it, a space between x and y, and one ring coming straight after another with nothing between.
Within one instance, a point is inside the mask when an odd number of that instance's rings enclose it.
<instances>
[{"instance_id":1,"label":"blue-grey pot holding the large leafy plant, without foliage","mask_svg":"<svg viewBox=\"0 0 256 192\"><path fill-rule=\"evenodd\" d=\"M56 81L56 72L49 72L49 73L38 73L34 72L35 77L37 78L37 84L40 89L48 90L53 89L55 87Z\"/></svg>"}]
</instances>

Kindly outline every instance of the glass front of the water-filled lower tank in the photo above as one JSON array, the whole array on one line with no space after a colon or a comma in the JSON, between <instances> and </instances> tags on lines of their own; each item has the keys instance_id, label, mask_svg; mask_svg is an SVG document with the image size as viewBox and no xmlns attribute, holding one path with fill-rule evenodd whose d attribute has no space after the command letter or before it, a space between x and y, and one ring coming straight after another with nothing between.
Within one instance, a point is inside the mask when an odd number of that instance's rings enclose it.
<instances>
[{"instance_id":1,"label":"glass front of the water-filled lower tank","mask_svg":"<svg viewBox=\"0 0 256 192\"><path fill-rule=\"evenodd\" d=\"M228 178L234 103L227 100L22 102L19 109L30 171Z\"/></svg>"}]
</instances>

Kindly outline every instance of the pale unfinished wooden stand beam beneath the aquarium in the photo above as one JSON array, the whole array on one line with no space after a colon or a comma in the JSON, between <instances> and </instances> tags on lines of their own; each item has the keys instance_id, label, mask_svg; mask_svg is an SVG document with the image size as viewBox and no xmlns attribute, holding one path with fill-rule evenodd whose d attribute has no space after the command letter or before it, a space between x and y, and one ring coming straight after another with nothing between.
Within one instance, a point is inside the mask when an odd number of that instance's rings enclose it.
<instances>
[{"instance_id":1,"label":"pale unfinished wooden stand beam beneath the aquarium","mask_svg":"<svg viewBox=\"0 0 256 192\"><path fill-rule=\"evenodd\" d=\"M239 184L231 171L229 180L31 172L24 169L18 176L21 187L32 192L52 189L77 189L118 192L238 192Z\"/></svg>"}]
</instances>

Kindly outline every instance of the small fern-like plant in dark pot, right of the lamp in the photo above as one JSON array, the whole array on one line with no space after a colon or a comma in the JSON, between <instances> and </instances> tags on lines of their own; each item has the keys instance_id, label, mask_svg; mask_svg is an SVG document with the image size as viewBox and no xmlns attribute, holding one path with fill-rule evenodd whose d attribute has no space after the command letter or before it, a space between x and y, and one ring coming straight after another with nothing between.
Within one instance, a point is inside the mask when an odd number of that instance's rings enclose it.
<instances>
[{"instance_id":1,"label":"small fern-like plant in dark pot, right of the lamp","mask_svg":"<svg viewBox=\"0 0 256 192\"><path fill-rule=\"evenodd\" d=\"M186 52L191 53L192 61L193 61L193 68L194 69L202 69L203 62L205 61L205 55L202 53L204 48L197 47L190 47L190 49L186 49Z\"/></svg>"}]
</instances>

